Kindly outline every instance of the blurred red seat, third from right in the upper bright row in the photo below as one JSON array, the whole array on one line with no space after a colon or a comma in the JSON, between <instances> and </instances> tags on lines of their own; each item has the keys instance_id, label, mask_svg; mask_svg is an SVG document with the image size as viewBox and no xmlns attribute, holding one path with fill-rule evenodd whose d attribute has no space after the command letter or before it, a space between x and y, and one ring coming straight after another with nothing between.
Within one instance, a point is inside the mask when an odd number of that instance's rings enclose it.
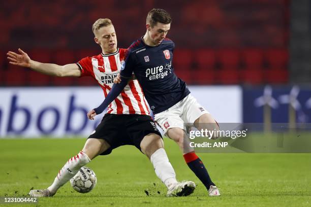
<instances>
[{"instance_id":1,"label":"blurred red seat, third from right in the upper bright row","mask_svg":"<svg viewBox=\"0 0 311 207\"><path fill-rule=\"evenodd\" d=\"M217 52L217 59L224 70L235 70L239 67L240 56L238 50L225 49Z\"/></svg>"}]
</instances>

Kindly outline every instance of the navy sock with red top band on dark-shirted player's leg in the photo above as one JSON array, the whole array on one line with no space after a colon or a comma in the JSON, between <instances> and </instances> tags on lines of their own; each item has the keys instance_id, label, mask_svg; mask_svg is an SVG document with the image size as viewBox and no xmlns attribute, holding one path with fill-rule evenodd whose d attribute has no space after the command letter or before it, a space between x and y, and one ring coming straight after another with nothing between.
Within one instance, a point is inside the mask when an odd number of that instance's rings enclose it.
<instances>
[{"instance_id":1,"label":"navy sock with red top band on dark-shirted player's leg","mask_svg":"<svg viewBox=\"0 0 311 207\"><path fill-rule=\"evenodd\" d=\"M194 172L194 174L196 174L207 190L209 189L209 186L215 186L215 184L211 181L203 162L196 155L196 153L190 152L184 154L183 158L188 164L189 168Z\"/></svg>"}]
</instances>

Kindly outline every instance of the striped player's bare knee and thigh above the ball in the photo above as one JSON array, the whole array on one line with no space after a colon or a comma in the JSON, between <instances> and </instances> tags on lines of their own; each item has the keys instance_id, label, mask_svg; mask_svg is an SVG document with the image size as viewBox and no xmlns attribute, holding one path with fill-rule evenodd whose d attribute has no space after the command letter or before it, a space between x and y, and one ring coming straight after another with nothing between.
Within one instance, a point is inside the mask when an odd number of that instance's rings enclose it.
<instances>
[{"instance_id":1,"label":"striped player's bare knee and thigh above the ball","mask_svg":"<svg viewBox=\"0 0 311 207\"><path fill-rule=\"evenodd\" d=\"M87 154L90 159L94 159L109 148L110 145L105 140L89 138L86 140L82 151Z\"/></svg>"}]
</instances>

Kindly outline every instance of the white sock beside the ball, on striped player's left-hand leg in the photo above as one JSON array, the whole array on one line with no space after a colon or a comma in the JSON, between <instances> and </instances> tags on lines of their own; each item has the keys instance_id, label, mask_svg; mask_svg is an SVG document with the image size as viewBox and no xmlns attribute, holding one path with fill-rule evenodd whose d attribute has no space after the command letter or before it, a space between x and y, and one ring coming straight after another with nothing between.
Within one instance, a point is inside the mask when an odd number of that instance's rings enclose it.
<instances>
[{"instance_id":1,"label":"white sock beside the ball, on striped player's left-hand leg","mask_svg":"<svg viewBox=\"0 0 311 207\"><path fill-rule=\"evenodd\" d=\"M53 184L48 187L48 190L55 194L58 188L67 183L71 178L73 178L79 169L90 162L88 156L80 151L76 156L69 159L66 164L61 168L54 179Z\"/></svg>"}]
</instances>

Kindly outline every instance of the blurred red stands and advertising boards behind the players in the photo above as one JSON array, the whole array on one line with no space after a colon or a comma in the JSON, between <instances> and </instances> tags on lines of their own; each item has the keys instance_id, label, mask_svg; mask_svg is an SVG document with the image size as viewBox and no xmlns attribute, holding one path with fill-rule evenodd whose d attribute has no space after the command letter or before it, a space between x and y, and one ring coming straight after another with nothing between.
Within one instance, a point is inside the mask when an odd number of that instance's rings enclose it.
<instances>
[{"instance_id":1,"label":"blurred red stands and advertising boards behind the players","mask_svg":"<svg viewBox=\"0 0 311 207\"><path fill-rule=\"evenodd\" d=\"M127 48L144 34L151 8L171 13L168 37L176 45L175 73L217 121L310 121L311 4L307 0L9 1L0 8L0 136L68 135L71 121L79 129L73 133L79 134L89 123L83 113L103 99L91 78L49 77L20 68L8 63L7 51L20 47L34 60L77 62L101 52L91 25L105 17L115 25L118 46ZM49 96L42 88L46 86ZM77 86L83 89L72 88ZM75 117L82 122L76 123ZM63 133L54 132L66 123ZM32 129L32 125L37 126Z\"/></svg>"}]
</instances>

